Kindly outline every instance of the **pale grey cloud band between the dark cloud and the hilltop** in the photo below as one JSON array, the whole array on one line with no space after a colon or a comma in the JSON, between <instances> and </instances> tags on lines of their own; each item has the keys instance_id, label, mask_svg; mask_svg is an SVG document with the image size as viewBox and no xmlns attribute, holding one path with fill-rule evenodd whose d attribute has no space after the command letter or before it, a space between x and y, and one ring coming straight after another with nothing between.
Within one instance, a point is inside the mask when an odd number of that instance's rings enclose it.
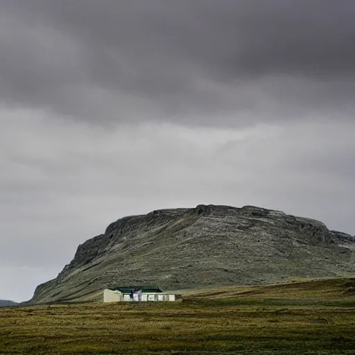
<instances>
[{"instance_id":1,"label":"pale grey cloud band between the dark cloud and the hilltop","mask_svg":"<svg viewBox=\"0 0 355 355\"><path fill-rule=\"evenodd\" d=\"M119 216L204 202L283 209L354 233L354 123L107 132L31 112L20 117L3 119L0 133L1 151L7 147L0 232L12 236L2 242L3 261L59 267ZM340 205L346 213L337 213Z\"/></svg>"}]
</instances>

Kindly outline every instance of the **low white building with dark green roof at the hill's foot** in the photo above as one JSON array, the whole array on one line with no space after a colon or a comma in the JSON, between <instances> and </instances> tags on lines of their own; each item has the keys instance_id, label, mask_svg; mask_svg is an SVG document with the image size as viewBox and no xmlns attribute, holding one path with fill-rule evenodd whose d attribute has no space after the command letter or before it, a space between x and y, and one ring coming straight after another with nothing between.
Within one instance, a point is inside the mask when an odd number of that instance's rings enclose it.
<instances>
[{"instance_id":1,"label":"low white building with dark green roof at the hill's foot","mask_svg":"<svg viewBox=\"0 0 355 355\"><path fill-rule=\"evenodd\" d=\"M105 288L103 302L175 301L175 295L163 293L157 286L115 286Z\"/></svg>"}]
</instances>

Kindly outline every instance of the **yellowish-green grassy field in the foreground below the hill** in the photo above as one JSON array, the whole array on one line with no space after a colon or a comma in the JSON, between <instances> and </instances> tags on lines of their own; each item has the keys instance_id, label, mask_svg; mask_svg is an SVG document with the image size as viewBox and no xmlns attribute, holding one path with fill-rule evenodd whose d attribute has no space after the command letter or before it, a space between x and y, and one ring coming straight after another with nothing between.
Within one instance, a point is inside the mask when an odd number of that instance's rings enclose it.
<instances>
[{"instance_id":1,"label":"yellowish-green grassy field in the foreground below the hill","mask_svg":"<svg viewBox=\"0 0 355 355\"><path fill-rule=\"evenodd\" d=\"M355 354L355 279L3 308L0 354Z\"/></svg>"}]
</instances>

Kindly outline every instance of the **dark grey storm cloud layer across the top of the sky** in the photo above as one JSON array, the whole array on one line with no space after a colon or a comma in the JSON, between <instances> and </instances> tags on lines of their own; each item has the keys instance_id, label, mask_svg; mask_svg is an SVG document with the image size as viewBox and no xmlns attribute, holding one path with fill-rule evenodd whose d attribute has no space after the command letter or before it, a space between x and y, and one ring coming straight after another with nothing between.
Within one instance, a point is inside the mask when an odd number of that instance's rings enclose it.
<instances>
[{"instance_id":1,"label":"dark grey storm cloud layer across the top of the sky","mask_svg":"<svg viewBox=\"0 0 355 355\"><path fill-rule=\"evenodd\" d=\"M0 13L9 105L94 121L354 114L353 0L1 0Z\"/></svg>"}]
</instances>

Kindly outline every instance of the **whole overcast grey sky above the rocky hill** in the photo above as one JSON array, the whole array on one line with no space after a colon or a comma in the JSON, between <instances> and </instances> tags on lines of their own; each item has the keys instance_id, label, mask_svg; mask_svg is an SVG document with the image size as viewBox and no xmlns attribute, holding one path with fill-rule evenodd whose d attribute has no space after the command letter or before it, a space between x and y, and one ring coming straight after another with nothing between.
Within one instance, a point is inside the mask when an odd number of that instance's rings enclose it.
<instances>
[{"instance_id":1,"label":"whole overcast grey sky above the rocky hill","mask_svg":"<svg viewBox=\"0 0 355 355\"><path fill-rule=\"evenodd\" d=\"M0 0L0 299L153 209L355 234L354 0Z\"/></svg>"}]
</instances>

